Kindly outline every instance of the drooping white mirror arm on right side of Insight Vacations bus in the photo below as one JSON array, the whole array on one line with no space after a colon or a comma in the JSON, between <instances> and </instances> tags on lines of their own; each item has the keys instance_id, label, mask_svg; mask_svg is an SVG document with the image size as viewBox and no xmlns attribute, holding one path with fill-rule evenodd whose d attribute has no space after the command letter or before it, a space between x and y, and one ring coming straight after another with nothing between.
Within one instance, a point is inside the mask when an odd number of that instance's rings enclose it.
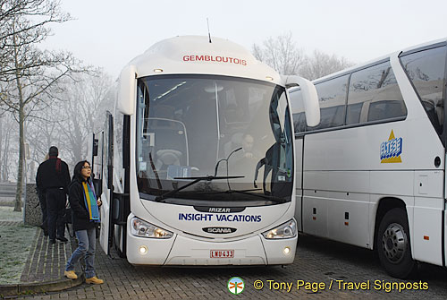
<instances>
[{"instance_id":1,"label":"drooping white mirror arm on right side of Insight Vacations bus","mask_svg":"<svg viewBox=\"0 0 447 300\"><path fill-rule=\"evenodd\" d=\"M287 89L296 85L299 85L299 89L301 90L308 126L313 127L320 124L320 105L318 103L315 85L299 76L285 76L285 86Z\"/></svg>"}]
</instances>

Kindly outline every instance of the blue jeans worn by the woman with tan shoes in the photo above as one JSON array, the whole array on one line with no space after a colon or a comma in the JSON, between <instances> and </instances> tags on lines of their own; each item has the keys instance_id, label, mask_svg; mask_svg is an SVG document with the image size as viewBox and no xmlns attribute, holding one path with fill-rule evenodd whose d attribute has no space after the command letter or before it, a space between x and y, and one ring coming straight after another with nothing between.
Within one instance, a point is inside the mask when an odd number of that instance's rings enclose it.
<instances>
[{"instance_id":1,"label":"blue jeans worn by the woman with tan shoes","mask_svg":"<svg viewBox=\"0 0 447 300\"><path fill-rule=\"evenodd\" d=\"M65 270L74 270L74 265L85 256L85 277L87 279L95 276L95 247L97 239L97 229L95 227L87 230L78 230L75 232L78 238L78 248L72 253L68 260Z\"/></svg>"}]
</instances>

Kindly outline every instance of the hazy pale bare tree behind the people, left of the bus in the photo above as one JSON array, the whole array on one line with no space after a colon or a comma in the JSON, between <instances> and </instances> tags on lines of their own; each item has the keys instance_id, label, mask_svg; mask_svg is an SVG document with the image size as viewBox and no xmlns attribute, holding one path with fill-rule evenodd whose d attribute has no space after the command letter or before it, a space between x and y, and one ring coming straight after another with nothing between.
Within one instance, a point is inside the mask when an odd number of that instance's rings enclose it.
<instances>
[{"instance_id":1,"label":"hazy pale bare tree behind the people, left of the bus","mask_svg":"<svg viewBox=\"0 0 447 300\"><path fill-rule=\"evenodd\" d=\"M105 109L114 107L109 97L111 85L110 76L101 69L74 74L59 83L62 92L57 101L44 100L47 107L33 112L26 126L29 182L34 181L37 166L51 145L59 148L69 166L86 158L89 133L104 124Z\"/></svg>"}]
</instances>

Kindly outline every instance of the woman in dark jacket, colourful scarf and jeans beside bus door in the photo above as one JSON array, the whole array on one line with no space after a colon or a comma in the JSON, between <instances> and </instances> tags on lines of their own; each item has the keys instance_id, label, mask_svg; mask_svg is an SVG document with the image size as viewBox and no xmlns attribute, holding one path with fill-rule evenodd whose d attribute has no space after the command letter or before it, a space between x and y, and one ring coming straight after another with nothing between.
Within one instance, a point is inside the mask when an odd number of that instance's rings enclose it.
<instances>
[{"instance_id":1,"label":"woman in dark jacket, colourful scarf and jeans beside bus door","mask_svg":"<svg viewBox=\"0 0 447 300\"><path fill-rule=\"evenodd\" d=\"M99 206L101 206L101 201L97 200L95 189L91 183L89 162L82 160L77 163L73 173L68 200L72 207L73 230L79 243L78 248L68 260L63 274L69 279L77 279L74 265L85 255L86 283L100 285L104 280L97 279L93 265L95 263L96 227L97 223L100 222Z\"/></svg>"}]
</instances>

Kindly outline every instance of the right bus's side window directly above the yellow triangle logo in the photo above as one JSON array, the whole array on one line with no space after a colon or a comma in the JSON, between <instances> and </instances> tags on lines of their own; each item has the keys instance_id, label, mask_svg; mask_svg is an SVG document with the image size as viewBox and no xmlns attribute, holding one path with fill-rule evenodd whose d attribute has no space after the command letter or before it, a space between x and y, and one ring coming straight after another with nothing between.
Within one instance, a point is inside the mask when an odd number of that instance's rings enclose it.
<instances>
[{"instance_id":1,"label":"right bus's side window directly above the yellow triangle logo","mask_svg":"<svg viewBox=\"0 0 447 300\"><path fill-rule=\"evenodd\" d=\"M352 73L346 124L358 124L407 116L389 62Z\"/></svg>"}]
</instances>

